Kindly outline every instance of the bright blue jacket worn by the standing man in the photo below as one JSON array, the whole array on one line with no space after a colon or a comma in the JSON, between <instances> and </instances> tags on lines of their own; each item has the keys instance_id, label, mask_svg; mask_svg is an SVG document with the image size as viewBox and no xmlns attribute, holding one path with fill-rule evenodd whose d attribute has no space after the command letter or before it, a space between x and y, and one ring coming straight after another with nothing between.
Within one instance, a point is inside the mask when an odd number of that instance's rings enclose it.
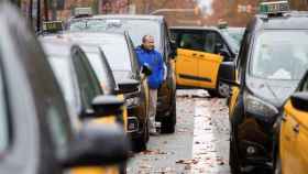
<instances>
[{"instance_id":1,"label":"bright blue jacket worn by the standing man","mask_svg":"<svg viewBox=\"0 0 308 174\"><path fill-rule=\"evenodd\" d=\"M147 51L142 46L135 48L139 65L147 64L152 68L152 75L147 77L147 84L151 89L157 89L164 80L164 62L160 52Z\"/></svg>"}]
</instances>

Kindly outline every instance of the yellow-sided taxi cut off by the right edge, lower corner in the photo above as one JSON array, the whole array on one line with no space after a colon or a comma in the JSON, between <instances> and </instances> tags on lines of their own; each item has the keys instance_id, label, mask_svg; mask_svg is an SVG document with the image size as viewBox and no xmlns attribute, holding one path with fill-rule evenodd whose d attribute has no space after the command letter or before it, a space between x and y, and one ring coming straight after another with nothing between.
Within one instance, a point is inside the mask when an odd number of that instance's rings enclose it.
<instances>
[{"instance_id":1,"label":"yellow-sided taxi cut off by the right edge, lower corner","mask_svg":"<svg viewBox=\"0 0 308 174\"><path fill-rule=\"evenodd\" d=\"M275 174L305 174L308 170L308 72L284 105L278 124Z\"/></svg>"}]
</instances>

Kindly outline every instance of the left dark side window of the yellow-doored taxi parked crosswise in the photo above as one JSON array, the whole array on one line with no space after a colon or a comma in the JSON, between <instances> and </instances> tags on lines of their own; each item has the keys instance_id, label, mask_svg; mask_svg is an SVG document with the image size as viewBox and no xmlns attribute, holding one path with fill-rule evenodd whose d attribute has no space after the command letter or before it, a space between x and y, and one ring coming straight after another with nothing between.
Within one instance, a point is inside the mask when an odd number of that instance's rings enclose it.
<instances>
[{"instance_id":1,"label":"left dark side window of the yellow-doored taxi parked crosswise","mask_svg":"<svg viewBox=\"0 0 308 174\"><path fill-rule=\"evenodd\" d=\"M201 32L199 33L184 33L180 35L179 41L180 48L187 48L193 51L204 51L205 37Z\"/></svg>"}]
</instances>

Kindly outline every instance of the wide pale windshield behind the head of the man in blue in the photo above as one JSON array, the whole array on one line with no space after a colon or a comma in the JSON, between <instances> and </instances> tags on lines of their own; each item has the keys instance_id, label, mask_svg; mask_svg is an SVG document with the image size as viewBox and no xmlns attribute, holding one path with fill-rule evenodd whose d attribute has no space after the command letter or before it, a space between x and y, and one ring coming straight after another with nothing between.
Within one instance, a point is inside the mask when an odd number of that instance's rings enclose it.
<instances>
[{"instance_id":1,"label":"wide pale windshield behind the head of the man in blue","mask_svg":"<svg viewBox=\"0 0 308 174\"><path fill-rule=\"evenodd\" d=\"M84 19L74 20L69 24L70 31L127 31L135 46L141 45L144 35L153 35L155 47L161 48L161 28L157 21L136 19Z\"/></svg>"}]
</instances>

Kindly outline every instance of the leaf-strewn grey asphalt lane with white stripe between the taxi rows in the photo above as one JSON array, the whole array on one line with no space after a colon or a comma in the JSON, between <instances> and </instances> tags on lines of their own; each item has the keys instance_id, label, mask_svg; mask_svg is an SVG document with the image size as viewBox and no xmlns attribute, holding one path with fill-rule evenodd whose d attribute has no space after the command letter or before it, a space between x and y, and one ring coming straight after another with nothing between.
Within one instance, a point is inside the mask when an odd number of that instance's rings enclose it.
<instances>
[{"instance_id":1,"label":"leaf-strewn grey asphalt lane with white stripe between the taxi rows","mask_svg":"<svg viewBox=\"0 0 308 174\"><path fill-rule=\"evenodd\" d=\"M224 99L205 90L178 90L174 134L151 137L147 151L129 162L129 174L229 174L229 122Z\"/></svg>"}]
</instances>

